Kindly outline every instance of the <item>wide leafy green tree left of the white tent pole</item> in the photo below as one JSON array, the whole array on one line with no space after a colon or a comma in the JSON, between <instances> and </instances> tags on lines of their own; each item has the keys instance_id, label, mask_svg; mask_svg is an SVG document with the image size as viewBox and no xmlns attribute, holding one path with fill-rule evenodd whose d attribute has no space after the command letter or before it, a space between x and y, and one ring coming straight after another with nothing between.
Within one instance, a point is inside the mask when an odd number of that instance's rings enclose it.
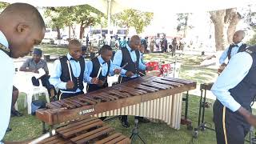
<instances>
[{"instance_id":1,"label":"wide leafy green tree left of the white tent pole","mask_svg":"<svg viewBox=\"0 0 256 144\"><path fill-rule=\"evenodd\" d=\"M84 30L101 22L102 12L89 5L48 8L46 16L52 20L54 28L70 26L74 31L74 23L80 25L79 38L82 39Z\"/></svg>"}]
</instances>

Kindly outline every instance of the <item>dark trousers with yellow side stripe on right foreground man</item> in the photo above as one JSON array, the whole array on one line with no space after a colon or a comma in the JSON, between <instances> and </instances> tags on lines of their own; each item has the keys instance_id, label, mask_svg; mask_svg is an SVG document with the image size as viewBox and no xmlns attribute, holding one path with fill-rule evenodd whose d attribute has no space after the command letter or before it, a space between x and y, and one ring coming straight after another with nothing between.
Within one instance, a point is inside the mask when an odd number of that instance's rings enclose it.
<instances>
[{"instance_id":1,"label":"dark trousers with yellow side stripe on right foreground man","mask_svg":"<svg viewBox=\"0 0 256 144\"><path fill-rule=\"evenodd\" d=\"M222 119L224 115L225 122ZM218 144L243 144L250 130L250 124L238 111L232 112L218 100L214 102L214 124Z\"/></svg>"}]
</instances>

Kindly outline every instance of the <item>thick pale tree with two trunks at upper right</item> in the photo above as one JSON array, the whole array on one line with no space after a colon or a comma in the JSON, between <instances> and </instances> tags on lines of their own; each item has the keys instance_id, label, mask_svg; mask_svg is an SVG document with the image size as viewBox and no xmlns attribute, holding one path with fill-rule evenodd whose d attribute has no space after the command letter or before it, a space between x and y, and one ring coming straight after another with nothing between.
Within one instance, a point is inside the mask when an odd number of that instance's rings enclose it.
<instances>
[{"instance_id":1,"label":"thick pale tree with two trunks at upper right","mask_svg":"<svg viewBox=\"0 0 256 144\"><path fill-rule=\"evenodd\" d=\"M238 22L242 19L236 9L210 11L210 19L214 23L216 50L224 50L232 38Z\"/></svg>"}]
</instances>

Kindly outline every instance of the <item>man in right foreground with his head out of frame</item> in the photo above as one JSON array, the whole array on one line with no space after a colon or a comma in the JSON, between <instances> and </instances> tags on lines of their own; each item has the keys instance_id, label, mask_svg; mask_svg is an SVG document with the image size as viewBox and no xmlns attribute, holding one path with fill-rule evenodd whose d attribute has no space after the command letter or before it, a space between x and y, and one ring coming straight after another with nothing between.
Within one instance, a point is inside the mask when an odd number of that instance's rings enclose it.
<instances>
[{"instance_id":1,"label":"man in right foreground with his head out of frame","mask_svg":"<svg viewBox=\"0 0 256 144\"><path fill-rule=\"evenodd\" d=\"M256 46L235 54L211 91L214 102L214 124L218 144L244 143L250 125L256 126L251 102L256 95Z\"/></svg>"}]
</instances>

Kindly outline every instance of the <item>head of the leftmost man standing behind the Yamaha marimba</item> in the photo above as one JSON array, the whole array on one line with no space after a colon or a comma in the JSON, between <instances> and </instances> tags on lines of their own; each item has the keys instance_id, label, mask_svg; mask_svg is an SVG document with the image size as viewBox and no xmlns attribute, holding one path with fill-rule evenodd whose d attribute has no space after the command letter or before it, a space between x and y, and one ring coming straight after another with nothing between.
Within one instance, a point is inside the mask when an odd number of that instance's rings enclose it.
<instances>
[{"instance_id":1,"label":"head of the leftmost man standing behind the Yamaha marimba","mask_svg":"<svg viewBox=\"0 0 256 144\"><path fill-rule=\"evenodd\" d=\"M70 41L68 45L70 55L78 60L81 57L82 54L82 48L81 48L81 43L77 39L73 39Z\"/></svg>"}]
</instances>

